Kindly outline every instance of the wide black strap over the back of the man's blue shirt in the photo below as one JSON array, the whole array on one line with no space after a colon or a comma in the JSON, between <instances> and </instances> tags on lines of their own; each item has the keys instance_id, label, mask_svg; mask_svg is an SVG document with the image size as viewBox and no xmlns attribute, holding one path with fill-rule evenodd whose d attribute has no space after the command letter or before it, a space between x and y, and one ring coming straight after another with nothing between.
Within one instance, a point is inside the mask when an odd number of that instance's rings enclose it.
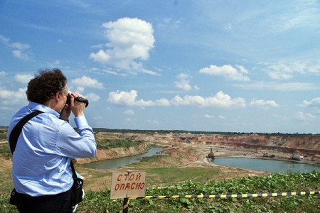
<instances>
[{"instance_id":1,"label":"wide black strap over the back of the man's blue shirt","mask_svg":"<svg viewBox=\"0 0 320 213\"><path fill-rule=\"evenodd\" d=\"M30 119L32 119L37 114L41 114L41 113L43 113L43 111L33 111L33 112L31 112L31 114L27 114L26 116L24 116L18 122L18 124L16 124L16 126L14 126L14 129L12 129L12 131L10 133L10 137L9 137L10 150L11 150L12 154L16 150L16 143L18 141L18 137L20 136L20 133L22 131L24 124L26 124L26 122L28 122Z\"/></svg>"}]
</instances>

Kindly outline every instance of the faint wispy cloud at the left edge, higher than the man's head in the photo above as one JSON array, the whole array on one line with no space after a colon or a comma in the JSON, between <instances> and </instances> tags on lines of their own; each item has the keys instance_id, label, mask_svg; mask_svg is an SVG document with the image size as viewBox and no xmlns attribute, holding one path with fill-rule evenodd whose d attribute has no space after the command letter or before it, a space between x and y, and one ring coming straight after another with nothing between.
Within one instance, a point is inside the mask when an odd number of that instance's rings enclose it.
<instances>
[{"instance_id":1,"label":"faint wispy cloud at the left edge, higher than the man's head","mask_svg":"<svg viewBox=\"0 0 320 213\"><path fill-rule=\"evenodd\" d=\"M0 34L0 41L7 47L11 48L12 55L20 60L30 60L31 53L29 52L30 45L20 42L11 42L9 38Z\"/></svg>"}]
</instances>

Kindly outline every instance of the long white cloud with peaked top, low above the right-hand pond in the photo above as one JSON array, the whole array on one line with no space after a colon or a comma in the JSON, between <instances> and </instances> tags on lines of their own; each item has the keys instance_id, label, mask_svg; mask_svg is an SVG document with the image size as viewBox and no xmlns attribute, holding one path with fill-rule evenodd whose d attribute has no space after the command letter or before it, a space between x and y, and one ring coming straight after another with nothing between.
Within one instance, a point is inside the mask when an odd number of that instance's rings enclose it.
<instances>
[{"instance_id":1,"label":"long white cloud with peaked top, low above the right-hand pond","mask_svg":"<svg viewBox=\"0 0 320 213\"><path fill-rule=\"evenodd\" d=\"M171 99L171 104L176 106L196 106L196 107L245 107L245 99L240 97L232 99L228 94L218 92L214 97L189 96L179 97L178 95Z\"/></svg>"}]
</instances>

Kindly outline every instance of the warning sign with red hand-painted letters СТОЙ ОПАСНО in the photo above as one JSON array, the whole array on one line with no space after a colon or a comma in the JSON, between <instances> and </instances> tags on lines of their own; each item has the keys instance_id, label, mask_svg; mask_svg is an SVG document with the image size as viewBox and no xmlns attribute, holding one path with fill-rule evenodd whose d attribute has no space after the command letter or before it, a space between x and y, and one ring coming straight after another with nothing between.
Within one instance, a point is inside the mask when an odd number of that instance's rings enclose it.
<instances>
[{"instance_id":1,"label":"warning sign with red hand-painted letters \u0421\u0422\u041e\u0419 \u041e\u041f\u0410\u0421\u041d\u041e","mask_svg":"<svg viewBox=\"0 0 320 213\"><path fill-rule=\"evenodd\" d=\"M112 173L110 199L144 197L146 194L146 171Z\"/></svg>"}]
</instances>

